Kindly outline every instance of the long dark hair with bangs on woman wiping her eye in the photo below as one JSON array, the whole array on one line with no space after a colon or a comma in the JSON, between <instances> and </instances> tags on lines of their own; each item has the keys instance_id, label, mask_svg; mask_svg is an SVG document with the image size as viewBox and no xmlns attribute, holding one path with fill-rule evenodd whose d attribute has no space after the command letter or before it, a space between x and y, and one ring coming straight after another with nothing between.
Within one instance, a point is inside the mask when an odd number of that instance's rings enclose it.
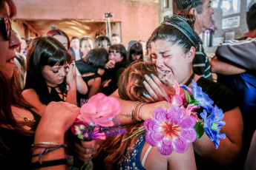
<instances>
[{"instance_id":1,"label":"long dark hair with bangs on woman wiping her eye","mask_svg":"<svg viewBox=\"0 0 256 170\"><path fill-rule=\"evenodd\" d=\"M47 89L42 70L45 66L62 66L69 63L71 57L65 47L50 36L34 38L27 50L27 77L24 89L34 89L39 100L47 105L50 103L50 93ZM66 83L59 84L62 93L67 92Z\"/></svg>"}]
</instances>

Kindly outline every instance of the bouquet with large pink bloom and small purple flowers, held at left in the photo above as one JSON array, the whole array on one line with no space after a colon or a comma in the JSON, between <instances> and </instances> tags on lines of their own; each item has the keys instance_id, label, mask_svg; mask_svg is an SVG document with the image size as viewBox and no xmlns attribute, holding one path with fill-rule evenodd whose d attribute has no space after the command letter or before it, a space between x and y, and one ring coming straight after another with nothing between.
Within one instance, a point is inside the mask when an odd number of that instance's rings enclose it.
<instances>
[{"instance_id":1,"label":"bouquet with large pink bloom and small purple flowers, held at left","mask_svg":"<svg viewBox=\"0 0 256 170\"><path fill-rule=\"evenodd\" d=\"M93 95L82 104L80 114L71 126L71 132L81 140L101 139L111 135L126 133L112 119L121 112L116 98L102 93Z\"/></svg>"}]
</instances>

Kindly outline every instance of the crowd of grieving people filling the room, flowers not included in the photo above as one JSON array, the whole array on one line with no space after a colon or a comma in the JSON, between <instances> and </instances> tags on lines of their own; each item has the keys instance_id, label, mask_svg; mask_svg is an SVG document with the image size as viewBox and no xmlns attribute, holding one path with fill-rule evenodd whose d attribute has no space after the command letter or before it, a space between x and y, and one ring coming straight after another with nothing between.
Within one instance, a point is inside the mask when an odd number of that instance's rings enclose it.
<instances>
[{"instance_id":1,"label":"crowd of grieving people filling the room, flowers not included","mask_svg":"<svg viewBox=\"0 0 256 170\"><path fill-rule=\"evenodd\" d=\"M174 15L165 16L146 42L131 40L128 47L116 33L111 39L69 38L56 27L26 41L11 27L16 16L13 1L1 1L0 9L3 167L256 169L256 4L246 13L249 32L220 44L211 62L198 36L210 27L210 0L174 0ZM211 72L217 73L217 82ZM183 154L160 154L145 134L122 141L153 118L155 109L172 107L166 97L174 95L174 81L191 89L196 81L223 110L226 125L220 132L226 138L218 149L206 133ZM70 126L80 107L98 93L119 101L122 110L114 121L127 133L105 140L72 140Z\"/></svg>"}]
</instances>

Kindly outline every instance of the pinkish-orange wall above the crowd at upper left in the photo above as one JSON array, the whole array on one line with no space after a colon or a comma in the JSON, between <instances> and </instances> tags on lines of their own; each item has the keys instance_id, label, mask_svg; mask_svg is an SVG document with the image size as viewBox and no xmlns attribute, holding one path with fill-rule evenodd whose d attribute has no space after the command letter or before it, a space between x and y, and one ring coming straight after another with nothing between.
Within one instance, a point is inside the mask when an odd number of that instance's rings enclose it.
<instances>
[{"instance_id":1,"label":"pinkish-orange wall above the crowd at upper left","mask_svg":"<svg viewBox=\"0 0 256 170\"><path fill-rule=\"evenodd\" d=\"M19 19L86 19L103 21L105 13L114 13L111 21L120 22L122 42L147 40L159 24L158 2L129 0L13 0Z\"/></svg>"}]
</instances>

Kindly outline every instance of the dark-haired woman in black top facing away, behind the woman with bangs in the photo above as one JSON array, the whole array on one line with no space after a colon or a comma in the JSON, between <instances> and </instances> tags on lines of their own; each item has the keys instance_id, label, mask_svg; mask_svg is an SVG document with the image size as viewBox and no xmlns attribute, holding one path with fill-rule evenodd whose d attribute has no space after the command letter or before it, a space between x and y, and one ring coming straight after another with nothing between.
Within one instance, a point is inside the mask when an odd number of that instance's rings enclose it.
<instances>
[{"instance_id":1,"label":"dark-haired woman in black top facing away, behind the woman with bangs","mask_svg":"<svg viewBox=\"0 0 256 170\"><path fill-rule=\"evenodd\" d=\"M82 75L82 79L88 86L88 93L86 95L77 94L77 102L80 103L81 99L89 99L91 96L96 95L99 92L99 87L102 82L102 78L96 72L85 72L85 67L93 67L96 69L104 69L105 62L108 58L108 52L103 49L93 49L88 52L82 61L76 61L76 67ZM82 62L83 64L80 64ZM89 69L88 69L89 70Z\"/></svg>"}]
</instances>

